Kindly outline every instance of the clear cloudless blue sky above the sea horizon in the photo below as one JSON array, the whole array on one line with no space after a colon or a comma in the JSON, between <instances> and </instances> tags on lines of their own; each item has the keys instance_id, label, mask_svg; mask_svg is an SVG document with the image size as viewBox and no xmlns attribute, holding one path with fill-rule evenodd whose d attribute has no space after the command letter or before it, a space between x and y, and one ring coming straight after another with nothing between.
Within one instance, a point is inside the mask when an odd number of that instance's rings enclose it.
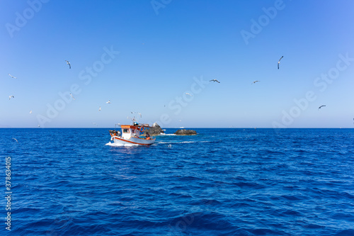
<instances>
[{"instance_id":1,"label":"clear cloudless blue sky above the sea horizon","mask_svg":"<svg viewBox=\"0 0 354 236\"><path fill-rule=\"evenodd\" d=\"M353 12L349 0L0 1L0 127L110 128L141 113L164 128L353 128Z\"/></svg>"}]
</instances>

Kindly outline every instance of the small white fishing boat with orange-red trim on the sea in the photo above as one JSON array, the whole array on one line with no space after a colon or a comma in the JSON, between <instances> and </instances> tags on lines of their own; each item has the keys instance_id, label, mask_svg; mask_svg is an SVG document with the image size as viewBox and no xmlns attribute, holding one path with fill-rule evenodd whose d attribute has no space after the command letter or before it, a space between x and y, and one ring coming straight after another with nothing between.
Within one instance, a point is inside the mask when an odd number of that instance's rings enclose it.
<instances>
[{"instance_id":1,"label":"small white fishing boat with orange-red trim on the sea","mask_svg":"<svg viewBox=\"0 0 354 236\"><path fill-rule=\"evenodd\" d=\"M153 137L140 137L144 129L151 128L147 124L119 125L118 128L121 128L122 132L117 131L116 128L109 130L110 140L116 144L152 145L156 140Z\"/></svg>"}]
</instances>

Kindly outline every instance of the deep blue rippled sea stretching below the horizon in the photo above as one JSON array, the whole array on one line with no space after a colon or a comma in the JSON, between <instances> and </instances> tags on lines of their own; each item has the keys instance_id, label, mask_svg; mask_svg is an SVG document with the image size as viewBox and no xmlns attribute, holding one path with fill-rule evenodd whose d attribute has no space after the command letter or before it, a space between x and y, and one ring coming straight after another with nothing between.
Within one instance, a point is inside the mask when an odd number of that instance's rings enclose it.
<instances>
[{"instance_id":1,"label":"deep blue rippled sea stretching below the horizon","mask_svg":"<svg viewBox=\"0 0 354 236\"><path fill-rule=\"evenodd\" d=\"M0 235L354 235L354 129L176 130L0 129Z\"/></svg>"}]
</instances>

